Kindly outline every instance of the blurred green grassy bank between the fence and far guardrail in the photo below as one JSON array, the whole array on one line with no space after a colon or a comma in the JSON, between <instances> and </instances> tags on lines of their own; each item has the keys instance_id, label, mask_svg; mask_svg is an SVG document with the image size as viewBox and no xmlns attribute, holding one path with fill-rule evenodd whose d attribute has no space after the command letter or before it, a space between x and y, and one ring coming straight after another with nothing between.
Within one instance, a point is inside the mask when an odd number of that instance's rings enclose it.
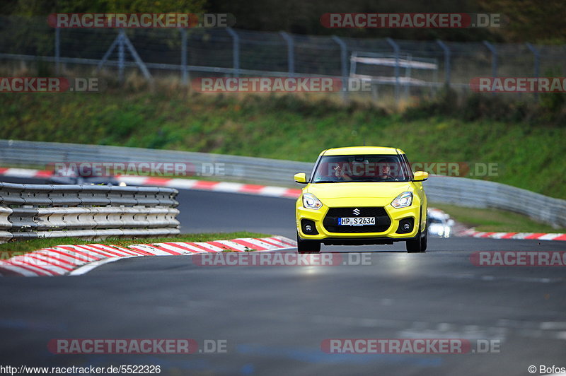
<instances>
[{"instance_id":1,"label":"blurred green grassy bank between the fence and far guardrail","mask_svg":"<svg viewBox=\"0 0 566 376\"><path fill-rule=\"evenodd\" d=\"M5 93L0 138L304 161L365 141L402 148L415 162L498 163L490 180L566 198L566 127L546 122L535 105L500 96L446 93L437 103L388 113L299 95Z\"/></svg>"}]
</instances>

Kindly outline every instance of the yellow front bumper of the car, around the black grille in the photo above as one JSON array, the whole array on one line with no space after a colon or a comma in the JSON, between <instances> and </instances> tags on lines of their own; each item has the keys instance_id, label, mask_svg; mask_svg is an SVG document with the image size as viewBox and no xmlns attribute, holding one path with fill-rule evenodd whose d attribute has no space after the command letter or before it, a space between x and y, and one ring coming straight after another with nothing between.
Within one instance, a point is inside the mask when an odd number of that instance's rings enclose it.
<instances>
[{"instance_id":1,"label":"yellow front bumper of the car, around the black grille","mask_svg":"<svg viewBox=\"0 0 566 376\"><path fill-rule=\"evenodd\" d=\"M349 200L350 201L350 200ZM380 200L381 201L381 200ZM358 204L358 205L356 205ZM379 205L381 204L381 205ZM385 209L390 225L386 230L379 233L362 233L363 226L356 227L352 230L355 233L348 232L332 232L327 227L325 227L324 219L330 210L330 207L325 205L318 210L304 208L301 202L297 201L296 204L296 229L299 233L299 237L304 240L321 240L325 244L332 245L369 245L369 244L391 244L395 241L408 240L410 238L417 237L419 221L420 221L420 201L413 200L413 204L406 208L393 208L390 204L383 205L383 202L378 201L366 201L364 200L363 205L359 205L355 202L347 202L346 204L340 204L340 206L332 206L332 208L339 207L356 207L356 208L367 208L367 207L381 207ZM352 214L352 217L354 215ZM398 233L399 223L405 218L412 218L412 230L409 233ZM311 235L304 232L301 226L301 221L309 220L313 221L316 227L316 235ZM328 225L328 220L326 221ZM379 225L379 221L377 223ZM328 226L336 230L335 226ZM346 227L346 226L345 226ZM341 228L341 231L347 231L347 228Z\"/></svg>"}]
</instances>

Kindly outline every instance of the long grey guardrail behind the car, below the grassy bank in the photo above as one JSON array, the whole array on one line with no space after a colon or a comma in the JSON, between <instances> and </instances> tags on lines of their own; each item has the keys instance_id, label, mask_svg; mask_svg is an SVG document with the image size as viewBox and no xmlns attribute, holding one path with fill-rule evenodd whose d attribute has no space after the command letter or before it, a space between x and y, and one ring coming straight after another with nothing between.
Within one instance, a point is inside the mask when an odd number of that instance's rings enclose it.
<instances>
[{"instance_id":1,"label":"long grey guardrail behind the car, below the grassy bank","mask_svg":"<svg viewBox=\"0 0 566 376\"><path fill-rule=\"evenodd\" d=\"M293 175L310 172L313 163L118 146L77 145L0 140L0 166L45 166L69 162L173 162L224 163L224 175L216 180L255 182L296 187ZM566 227L566 201L506 184L464 177L431 176L424 183L429 200L473 208L499 208L529 216L555 227Z\"/></svg>"}]
</instances>

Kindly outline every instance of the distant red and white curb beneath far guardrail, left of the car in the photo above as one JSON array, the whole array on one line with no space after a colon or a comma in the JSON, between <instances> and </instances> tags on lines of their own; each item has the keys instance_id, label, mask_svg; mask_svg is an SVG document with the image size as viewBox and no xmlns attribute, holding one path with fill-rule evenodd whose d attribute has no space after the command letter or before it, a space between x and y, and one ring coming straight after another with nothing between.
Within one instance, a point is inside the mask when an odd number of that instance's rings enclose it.
<instances>
[{"instance_id":1,"label":"distant red and white curb beneath far guardrail, left of the car","mask_svg":"<svg viewBox=\"0 0 566 376\"><path fill-rule=\"evenodd\" d=\"M47 178L51 177L53 175L53 172L50 170L30 170L25 168L0 168L0 175L10 177ZM301 189L234 182L212 182L209 180L132 175L118 175L116 177L116 180L118 182L124 182L128 185L151 185L176 189L195 189L199 191L255 194L259 196L286 197L289 199L296 199L301 195Z\"/></svg>"}]
</instances>

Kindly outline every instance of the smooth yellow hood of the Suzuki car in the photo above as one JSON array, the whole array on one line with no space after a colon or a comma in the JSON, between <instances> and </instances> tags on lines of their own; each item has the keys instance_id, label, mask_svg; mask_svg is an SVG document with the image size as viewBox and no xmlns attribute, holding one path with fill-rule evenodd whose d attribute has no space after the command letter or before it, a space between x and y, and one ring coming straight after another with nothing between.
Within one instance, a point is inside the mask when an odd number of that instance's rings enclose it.
<instances>
[{"instance_id":1,"label":"smooth yellow hood of the Suzuki car","mask_svg":"<svg viewBox=\"0 0 566 376\"><path fill-rule=\"evenodd\" d=\"M398 194L412 191L409 182L380 182L380 183L317 183L308 184L304 192L314 194L318 199L340 198L391 198Z\"/></svg>"}]
</instances>

